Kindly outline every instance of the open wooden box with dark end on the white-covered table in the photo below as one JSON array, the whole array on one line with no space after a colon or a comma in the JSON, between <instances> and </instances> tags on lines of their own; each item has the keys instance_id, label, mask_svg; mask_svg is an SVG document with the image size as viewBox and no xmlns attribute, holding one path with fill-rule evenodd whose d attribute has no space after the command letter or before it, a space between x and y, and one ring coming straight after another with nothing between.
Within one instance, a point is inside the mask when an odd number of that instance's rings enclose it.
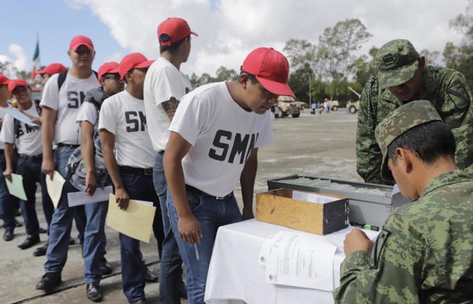
<instances>
[{"instance_id":1,"label":"open wooden box with dark end on the white-covered table","mask_svg":"<svg viewBox=\"0 0 473 304\"><path fill-rule=\"evenodd\" d=\"M301 192L301 191L298 191ZM256 194L258 221L314 234L329 234L348 227L348 199L325 193L335 200L326 203L293 199L293 190L276 189Z\"/></svg>"}]
</instances>

